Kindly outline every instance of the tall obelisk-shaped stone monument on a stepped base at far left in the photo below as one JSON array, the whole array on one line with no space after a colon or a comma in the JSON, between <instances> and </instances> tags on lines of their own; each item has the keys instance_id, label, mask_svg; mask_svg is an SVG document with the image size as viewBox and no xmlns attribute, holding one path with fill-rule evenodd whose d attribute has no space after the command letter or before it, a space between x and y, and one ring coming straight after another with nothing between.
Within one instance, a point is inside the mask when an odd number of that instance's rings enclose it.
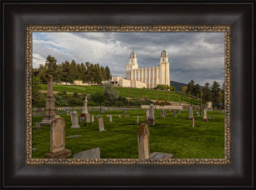
<instances>
[{"instance_id":1,"label":"tall obelisk-shaped stone monument on a stepped base at far left","mask_svg":"<svg viewBox=\"0 0 256 190\"><path fill-rule=\"evenodd\" d=\"M53 96L53 81L52 81L52 75L48 76L48 84L47 84L47 97L45 99L46 103L46 109L45 109L45 116L43 117L43 120L41 124L49 124L51 125L52 120L55 119L56 113L55 113L55 97Z\"/></svg>"}]
</instances>

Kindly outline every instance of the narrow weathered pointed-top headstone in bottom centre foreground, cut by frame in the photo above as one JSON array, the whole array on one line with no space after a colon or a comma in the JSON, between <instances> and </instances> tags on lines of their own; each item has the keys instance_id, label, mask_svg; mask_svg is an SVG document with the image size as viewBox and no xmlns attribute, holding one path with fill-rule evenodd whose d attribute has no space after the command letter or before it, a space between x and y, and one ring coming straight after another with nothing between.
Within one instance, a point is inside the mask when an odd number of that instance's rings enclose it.
<instances>
[{"instance_id":1,"label":"narrow weathered pointed-top headstone in bottom centre foreground, cut by frame","mask_svg":"<svg viewBox=\"0 0 256 190\"><path fill-rule=\"evenodd\" d=\"M139 147L139 158L149 158L149 127L147 124L140 124L138 130L138 147Z\"/></svg>"}]
</instances>

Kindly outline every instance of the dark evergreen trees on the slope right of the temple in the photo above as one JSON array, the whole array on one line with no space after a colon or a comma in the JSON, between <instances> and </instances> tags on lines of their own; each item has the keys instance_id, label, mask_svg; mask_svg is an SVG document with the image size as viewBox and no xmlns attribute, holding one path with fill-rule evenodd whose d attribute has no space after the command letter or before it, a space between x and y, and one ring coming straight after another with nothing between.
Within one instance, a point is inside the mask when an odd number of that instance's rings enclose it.
<instances>
[{"instance_id":1,"label":"dark evergreen trees on the slope right of the temple","mask_svg":"<svg viewBox=\"0 0 256 190\"><path fill-rule=\"evenodd\" d=\"M186 95L200 98L204 102L211 101L215 107L224 105L224 90L225 83L220 87L217 81L214 81L212 85L205 83L201 89L199 84L195 85L194 80L190 80L188 85L182 88Z\"/></svg>"}]
</instances>

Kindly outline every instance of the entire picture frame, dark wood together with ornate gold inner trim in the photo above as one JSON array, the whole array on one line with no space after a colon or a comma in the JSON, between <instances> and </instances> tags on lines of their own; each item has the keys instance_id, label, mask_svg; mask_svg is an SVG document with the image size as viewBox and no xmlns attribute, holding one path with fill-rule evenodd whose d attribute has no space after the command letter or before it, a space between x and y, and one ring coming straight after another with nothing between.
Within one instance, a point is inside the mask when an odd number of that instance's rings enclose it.
<instances>
[{"instance_id":1,"label":"entire picture frame, dark wood together with ornate gold inner trim","mask_svg":"<svg viewBox=\"0 0 256 190\"><path fill-rule=\"evenodd\" d=\"M253 7L252 1L1 1L1 188L255 188ZM106 31L111 26L231 31L225 39L225 104L230 107L225 108L223 160L31 157L31 32Z\"/></svg>"}]
</instances>

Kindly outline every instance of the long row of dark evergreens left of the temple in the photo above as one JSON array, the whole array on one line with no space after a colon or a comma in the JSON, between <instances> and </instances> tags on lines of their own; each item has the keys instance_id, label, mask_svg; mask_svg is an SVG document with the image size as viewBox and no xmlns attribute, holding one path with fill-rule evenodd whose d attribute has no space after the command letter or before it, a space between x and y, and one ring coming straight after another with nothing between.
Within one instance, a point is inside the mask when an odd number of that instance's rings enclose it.
<instances>
[{"instance_id":1,"label":"long row of dark evergreens left of the temple","mask_svg":"<svg viewBox=\"0 0 256 190\"><path fill-rule=\"evenodd\" d=\"M53 76L55 82L73 83L74 80L82 80L84 83L101 84L102 80L111 78L110 69L100 66L99 63L89 62L77 64L75 60L57 64L57 60L48 55L45 65L40 64L39 68L33 68L33 76L37 76L42 83L47 83L48 75Z\"/></svg>"}]
</instances>

